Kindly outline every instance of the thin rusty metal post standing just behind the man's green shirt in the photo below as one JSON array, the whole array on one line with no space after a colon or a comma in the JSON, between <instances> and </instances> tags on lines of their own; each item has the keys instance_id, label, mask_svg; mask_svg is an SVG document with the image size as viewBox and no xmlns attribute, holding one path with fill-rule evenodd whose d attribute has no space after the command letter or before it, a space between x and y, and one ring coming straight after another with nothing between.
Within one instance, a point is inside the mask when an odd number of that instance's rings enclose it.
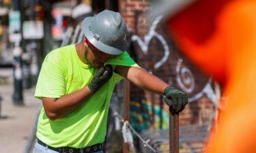
<instances>
[{"instance_id":1,"label":"thin rusty metal post standing just behind the man's green shirt","mask_svg":"<svg viewBox=\"0 0 256 153\"><path fill-rule=\"evenodd\" d=\"M124 120L130 120L130 82L124 80ZM128 143L123 140L123 153L129 153Z\"/></svg>"}]
</instances>

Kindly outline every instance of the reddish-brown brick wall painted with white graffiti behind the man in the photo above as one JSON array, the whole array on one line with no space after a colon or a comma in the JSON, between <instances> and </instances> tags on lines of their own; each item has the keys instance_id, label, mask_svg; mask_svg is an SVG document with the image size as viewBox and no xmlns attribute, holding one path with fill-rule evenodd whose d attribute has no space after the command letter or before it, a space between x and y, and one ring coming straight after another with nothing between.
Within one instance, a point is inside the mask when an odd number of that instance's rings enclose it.
<instances>
[{"instance_id":1,"label":"reddish-brown brick wall painted with white graffiti behind the man","mask_svg":"<svg viewBox=\"0 0 256 153\"><path fill-rule=\"evenodd\" d=\"M144 0L119 0L118 2L119 12L126 20L131 33L128 52L134 61L171 86L177 86L188 94L190 103L180 114L180 124L212 122L215 113L212 103L214 98L211 97L212 95L214 97L214 84L210 82L210 77L203 75L180 52L162 20L150 21L147 18L147 12L152 8L150 2ZM160 105L158 95L144 92L135 86L131 87L131 100L137 101L140 105L143 100L150 101L150 103L154 101L156 105ZM168 112L167 105L164 105L164 109ZM143 119L150 120L149 118Z\"/></svg>"}]
</instances>

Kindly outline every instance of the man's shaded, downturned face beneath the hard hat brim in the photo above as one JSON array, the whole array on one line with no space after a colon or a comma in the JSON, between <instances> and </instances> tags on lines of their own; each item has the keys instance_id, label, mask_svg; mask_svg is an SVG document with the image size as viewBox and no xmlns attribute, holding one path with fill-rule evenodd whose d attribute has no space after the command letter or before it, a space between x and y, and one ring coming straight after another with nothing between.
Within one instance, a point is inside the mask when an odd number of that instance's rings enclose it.
<instances>
[{"instance_id":1,"label":"man's shaded, downturned face beneath the hard hat brim","mask_svg":"<svg viewBox=\"0 0 256 153\"><path fill-rule=\"evenodd\" d=\"M83 42L85 46L85 59L91 67L99 68L111 58L114 58L112 54L106 54L94 46L92 46L88 41Z\"/></svg>"}]
</instances>

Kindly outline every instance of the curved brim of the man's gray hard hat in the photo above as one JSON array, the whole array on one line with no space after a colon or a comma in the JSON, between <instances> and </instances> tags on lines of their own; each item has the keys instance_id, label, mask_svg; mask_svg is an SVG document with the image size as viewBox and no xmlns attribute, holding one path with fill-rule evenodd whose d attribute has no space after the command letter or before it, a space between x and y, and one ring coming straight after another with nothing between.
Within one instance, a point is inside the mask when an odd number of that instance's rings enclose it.
<instances>
[{"instance_id":1,"label":"curved brim of the man's gray hard hat","mask_svg":"<svg viewBox=\"0 0 256 153\"><path fill-rule=\"evenodd\" d=\"M113 48L111 46L107 46L106 44L103 44L101 41L98 41L97 39L94 38L94 33L91 33L89 30L89 25L91 23L91 20L94 17L87 17L83 20L82 22L82 31L85 37L89 40L91 44L93 44L98 50L105 52L106 54L122 54L124 51L119 50L117 48Z\"/></svg>"}]
</instances>

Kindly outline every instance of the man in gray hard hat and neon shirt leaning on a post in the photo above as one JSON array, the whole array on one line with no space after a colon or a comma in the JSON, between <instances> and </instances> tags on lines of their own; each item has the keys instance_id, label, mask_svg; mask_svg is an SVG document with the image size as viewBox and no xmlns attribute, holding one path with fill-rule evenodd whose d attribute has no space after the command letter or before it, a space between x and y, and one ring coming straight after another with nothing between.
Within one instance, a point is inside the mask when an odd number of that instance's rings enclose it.
<instances>
[{"instance_id":1,"label":"man in gray hard hat and neon shirt leaning on a post","mask_svg":"<svg viewBox=\"0 0 256 153\"><path fill-rule=\"evenodd\" d=\"M102 152L113 88L126 78L136 86L165 95L178 113L188 99L141 69L125 50L126 23L104 10L83 20L85 39L50 52L44 59L35 97L44 107L34 152Z\"/></svg>"}]
</instances>

